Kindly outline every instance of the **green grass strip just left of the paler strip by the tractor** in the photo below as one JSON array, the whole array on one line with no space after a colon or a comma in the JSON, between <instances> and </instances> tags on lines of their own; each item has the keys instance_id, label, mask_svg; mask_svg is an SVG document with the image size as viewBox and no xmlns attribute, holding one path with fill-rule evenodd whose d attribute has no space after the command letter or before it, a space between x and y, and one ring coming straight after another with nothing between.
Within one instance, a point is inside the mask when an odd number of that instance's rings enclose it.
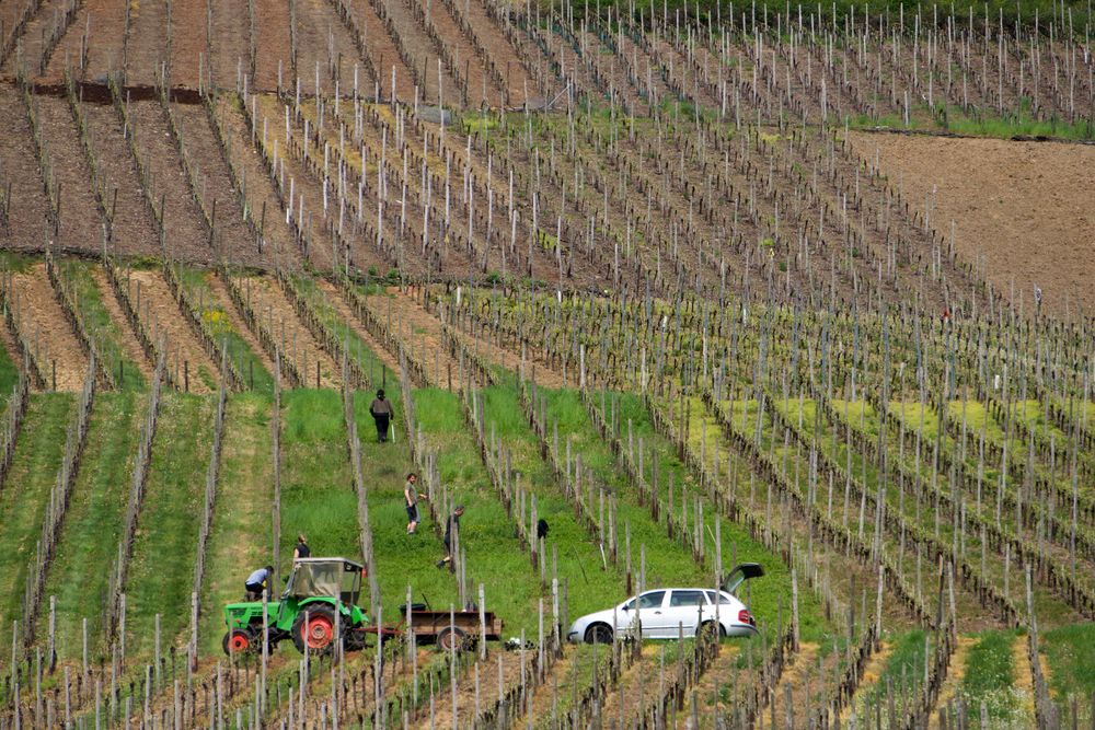
<instances>
[{"instance_id":1,"label":"green grass strip just left of the paler strip by the tractor","mask_svg":"<svg viewBox=\"0 0 1095 730\"><path fill-rule=\"evenodd\" d=\"M160 403L125 587L127 641L136 654L153 649L155 614L164 650L189 625L215 409L212 397L182 393L164 393Z\"/></svg>"}]
</instances>

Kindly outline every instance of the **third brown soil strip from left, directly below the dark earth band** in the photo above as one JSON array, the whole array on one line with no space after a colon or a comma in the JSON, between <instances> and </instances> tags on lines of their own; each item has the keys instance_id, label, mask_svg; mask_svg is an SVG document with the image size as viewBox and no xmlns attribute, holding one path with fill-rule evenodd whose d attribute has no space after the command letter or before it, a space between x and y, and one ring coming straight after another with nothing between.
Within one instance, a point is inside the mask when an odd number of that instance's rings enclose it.
<instances>
[{"instance_id":1,"label":"third brown soil strip from left, directly below the dark earth band","mask_svg":"<svg viewBox=\"0 0 1095 730\"><path fill-rule=\"evenodd\" d=\"M161 253L155 221L145 202L136 163L122 137L122 125L111 106L84 104L91 146L105 178L107 199L114 208L112 253ZM116 202L115 202L116 200Z\"/></svg>"}]
</instances>

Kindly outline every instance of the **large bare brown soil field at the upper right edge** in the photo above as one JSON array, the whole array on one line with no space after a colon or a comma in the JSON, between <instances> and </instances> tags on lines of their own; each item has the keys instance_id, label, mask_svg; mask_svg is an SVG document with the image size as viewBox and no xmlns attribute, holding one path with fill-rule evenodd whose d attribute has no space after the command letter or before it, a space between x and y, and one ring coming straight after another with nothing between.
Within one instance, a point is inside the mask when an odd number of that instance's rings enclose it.
<instances>
[{"instance_id":1,"label":"large bare brown soil field at the upper right edge","mask_svg":"<svg viewBox=\"0 0 1095 730\"><path fill-rule=\"evenodd\" d=\"M856 132L855 151L873 165L876 151L892 188L923 210L936 188L933 218L949 236L957 221L959 257L988 262L998 294L1063 313L1095 306L1095 148L1057 142L955 139ZM983 266L983 263L982 263Z\"/></svg>"}]
</instances>

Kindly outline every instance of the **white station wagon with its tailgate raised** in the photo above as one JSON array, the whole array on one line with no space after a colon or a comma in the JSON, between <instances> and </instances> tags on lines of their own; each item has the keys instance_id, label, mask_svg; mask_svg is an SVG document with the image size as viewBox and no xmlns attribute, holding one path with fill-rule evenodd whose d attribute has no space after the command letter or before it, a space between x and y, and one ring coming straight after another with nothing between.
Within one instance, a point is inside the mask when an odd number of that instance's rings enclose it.
<instances>
[{"instance_id":1,"label":"white station wagon with its tailgate raised","mask_svg":"<svg viewBox=\"0 0 1095 730\"><path fill-rule=\"evenodd\" d=\"M616 634L634 636L642 627L644 639L675 639L682 629L684 636L695 636L702 629L715 626L719 627L723 636L751 636L757 633L757 622L734 591L750 578L763 575L764 569L760 565L744 563L730 571L719 591L710 588L644 591L614 609L577 619L570 625L566 638L572 642L608 642Z\"/></svg>"}]
</instances>

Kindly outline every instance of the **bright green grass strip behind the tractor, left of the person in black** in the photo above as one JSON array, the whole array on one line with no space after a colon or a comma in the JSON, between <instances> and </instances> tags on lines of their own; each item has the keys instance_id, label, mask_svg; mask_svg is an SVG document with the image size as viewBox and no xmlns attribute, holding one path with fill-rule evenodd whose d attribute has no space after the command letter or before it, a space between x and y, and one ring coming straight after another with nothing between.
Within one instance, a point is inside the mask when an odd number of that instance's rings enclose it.
<instances>
[{"instance_id":1,"label":"bright green grass strip behind the tractor, left of the person in black","mask_svg":"<svg viewBox=\"0 0 1095 730\"><path fill-rule=\"evenodd\" d=\"M308 535L316 557L360 560L357 497L342 394L332 390L291 391L283 394L281 405L279 577L288 575L292 546L300 532Z\"/></svg>"}]
</instances>

